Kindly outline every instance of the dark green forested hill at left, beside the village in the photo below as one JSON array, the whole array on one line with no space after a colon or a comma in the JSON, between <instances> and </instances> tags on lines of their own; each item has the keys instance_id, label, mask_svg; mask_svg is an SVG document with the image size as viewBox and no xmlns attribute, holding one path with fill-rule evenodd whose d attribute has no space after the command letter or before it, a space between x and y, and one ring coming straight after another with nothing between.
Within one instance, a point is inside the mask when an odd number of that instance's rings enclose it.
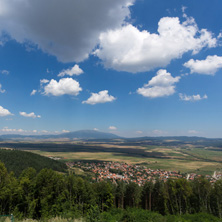
<instances>
[{"instance_id":1,"label":"dark green forested hill at left, beside the village","mask_svg":"<svg viewBox=\"0 0 222 222\"><path fill-rule=\"evenodd\" d=\"M15 176L19 176L28 167L33 167L37 172L43 168L59 172L65 172L67 169L65 163L20 150L0 149L0 161L9 172L13 171Z\"/></svg>"}]
</instances>

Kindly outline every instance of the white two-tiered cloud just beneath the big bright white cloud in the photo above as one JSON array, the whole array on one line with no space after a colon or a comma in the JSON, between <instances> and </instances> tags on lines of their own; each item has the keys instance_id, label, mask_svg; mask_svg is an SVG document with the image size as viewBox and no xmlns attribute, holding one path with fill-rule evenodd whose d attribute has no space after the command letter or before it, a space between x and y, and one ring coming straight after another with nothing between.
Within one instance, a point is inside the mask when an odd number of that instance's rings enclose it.
<instances>
[{"instance_id":1,"label":"white two-tiered cloud just beneath the big bright white cloud","mask_svg":"<svg viewBox=\"0 0 222 222\"><path fill-rule=\"evenodd\" d=\"M137 89L137 93L149 98L170 96L175 93L175 83L180 77L172 77L165 69L160 69L148 84Z\"/></svg>"}]
</instances>

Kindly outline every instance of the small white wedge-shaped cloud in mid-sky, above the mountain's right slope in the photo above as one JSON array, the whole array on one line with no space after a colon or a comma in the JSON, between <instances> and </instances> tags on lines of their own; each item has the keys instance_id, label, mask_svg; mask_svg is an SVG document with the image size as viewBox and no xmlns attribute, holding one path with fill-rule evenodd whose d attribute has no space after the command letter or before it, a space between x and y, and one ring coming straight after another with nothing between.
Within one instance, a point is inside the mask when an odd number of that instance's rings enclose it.
<instances>
[{"instance_id":1,"label":"small white wedge-shaped cloud in mid-sky, above the mountain's right slope","mask_svg":"<svg viewBox=\"0 0 222 222\"><path fill-rule=\"evenodd\" d=\"M116 98L109 95L108 93L109 93L108 90L103 90L98 93L91 93L91 96L82 103L95 105L97 103L107 103L114 101Z\"/></svg>"}]
</instances>

